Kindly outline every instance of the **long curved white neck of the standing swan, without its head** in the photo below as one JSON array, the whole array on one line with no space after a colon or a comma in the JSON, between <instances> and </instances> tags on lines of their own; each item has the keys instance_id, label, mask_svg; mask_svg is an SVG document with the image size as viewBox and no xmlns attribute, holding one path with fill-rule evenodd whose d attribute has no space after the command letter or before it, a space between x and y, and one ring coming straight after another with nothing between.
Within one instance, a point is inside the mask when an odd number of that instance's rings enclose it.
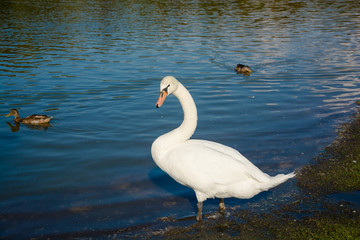
<instances>
[{"instance_id":1,"label":"long curved white neck of the standing swan, without its head","mask_svg":"<svg viewBox=\"0 0 360 240\"><path fill-rule=\"evenodd\" d=\"M184 112L184 120L181 125L158 137L152 146L152 155L154 159L161 158L159 154L165 153L166 150L179 143L183 143L190 139L194 134L197 125L196 105L186 88L179 83L176 91L173 92L182 106Z\"/></svg>"}]
</instances>

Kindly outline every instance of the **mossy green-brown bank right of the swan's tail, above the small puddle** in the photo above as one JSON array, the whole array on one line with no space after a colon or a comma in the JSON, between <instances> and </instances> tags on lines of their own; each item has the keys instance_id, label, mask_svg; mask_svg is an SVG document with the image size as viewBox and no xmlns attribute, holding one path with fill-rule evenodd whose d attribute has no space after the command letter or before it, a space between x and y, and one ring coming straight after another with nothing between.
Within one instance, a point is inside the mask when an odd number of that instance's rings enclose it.
<instances>
[{"instance_id":1,"label":"mossy green-brown bank right of the swan's tail, above the small puddle","mask_svg":"<svg viewBox=\"0 0 360 240\"><path fill-rule=\"evenodd\" d=\"M297 177L302 190L329 194L360 190L360 113L341 126L338 138Z\"/></svg>"}]
</instances>

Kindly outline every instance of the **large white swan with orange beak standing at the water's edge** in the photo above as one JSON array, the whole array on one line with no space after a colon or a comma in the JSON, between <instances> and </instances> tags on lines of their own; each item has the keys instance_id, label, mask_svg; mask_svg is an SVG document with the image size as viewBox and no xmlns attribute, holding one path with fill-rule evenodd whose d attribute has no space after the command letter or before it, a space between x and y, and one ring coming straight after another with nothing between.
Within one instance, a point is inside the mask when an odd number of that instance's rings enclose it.
<instances>
[{"instance_id":1,"label":"large white swan with orange beak standing at the water's edge","mask_svg":"<svg viewBox=\"0 0 360 240\"><path fill-rule=\"evenodd\" d=\"M151 155L163 171L195 191L197 221L202 219L202 203L207 198L220 198L219 209L223 212L224 198L252 198L295 176L292 172L271 177L233 148L206 140L190 140L197 124L194 100L179 81L167 76L160 83L156 107L161 107L170 94L179 99L184 121L178 128L154 141Z\"/></svg>"}]
</instances>

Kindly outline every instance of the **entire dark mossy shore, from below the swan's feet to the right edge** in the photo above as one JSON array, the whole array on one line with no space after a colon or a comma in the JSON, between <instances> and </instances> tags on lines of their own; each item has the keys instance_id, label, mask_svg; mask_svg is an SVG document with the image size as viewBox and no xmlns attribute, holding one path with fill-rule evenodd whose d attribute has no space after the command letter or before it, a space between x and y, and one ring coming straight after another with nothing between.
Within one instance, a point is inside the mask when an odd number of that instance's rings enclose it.
<instances>
[{"instance_id":1,"label":"entire dark mossy shore, from below the swan's feet to the right edge","mask_svg":"<svg viewBox=\"0 0 360 240\"><path fill-rule=\"evenodd\" d=\"M360 200L332 194L360 190L360 112L336 140L296 176L300 193L270 213L231 212L189 226L170 226L149 239L360 239ZM143 236L142 236L143 237Z\"/></svg>"}]
</instances>

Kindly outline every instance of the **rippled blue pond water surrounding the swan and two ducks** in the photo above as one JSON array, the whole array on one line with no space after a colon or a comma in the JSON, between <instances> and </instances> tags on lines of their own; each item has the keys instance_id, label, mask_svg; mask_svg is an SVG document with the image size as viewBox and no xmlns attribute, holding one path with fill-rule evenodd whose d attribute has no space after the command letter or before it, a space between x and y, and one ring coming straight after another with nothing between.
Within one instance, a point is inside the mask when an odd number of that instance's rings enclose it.
<instances>
[{"instance_id":1,"label":"rippled blue pond water surrounding the swan and two ducks","mask_svg":"<svg viewBox=\"0 0 360 240\"><path fill-rule=\"evenodd\" d=\"M0 13L0 238L194 216L195 194L150 154L183 117L173 96L155 108L164 76L197 104L193 138L270 175L311 162L360 100L358 1L3 0ZM12 108L51 125L16 127ZM225 203L265 209L294 191Z\"/></svg>"}]
</instances>

